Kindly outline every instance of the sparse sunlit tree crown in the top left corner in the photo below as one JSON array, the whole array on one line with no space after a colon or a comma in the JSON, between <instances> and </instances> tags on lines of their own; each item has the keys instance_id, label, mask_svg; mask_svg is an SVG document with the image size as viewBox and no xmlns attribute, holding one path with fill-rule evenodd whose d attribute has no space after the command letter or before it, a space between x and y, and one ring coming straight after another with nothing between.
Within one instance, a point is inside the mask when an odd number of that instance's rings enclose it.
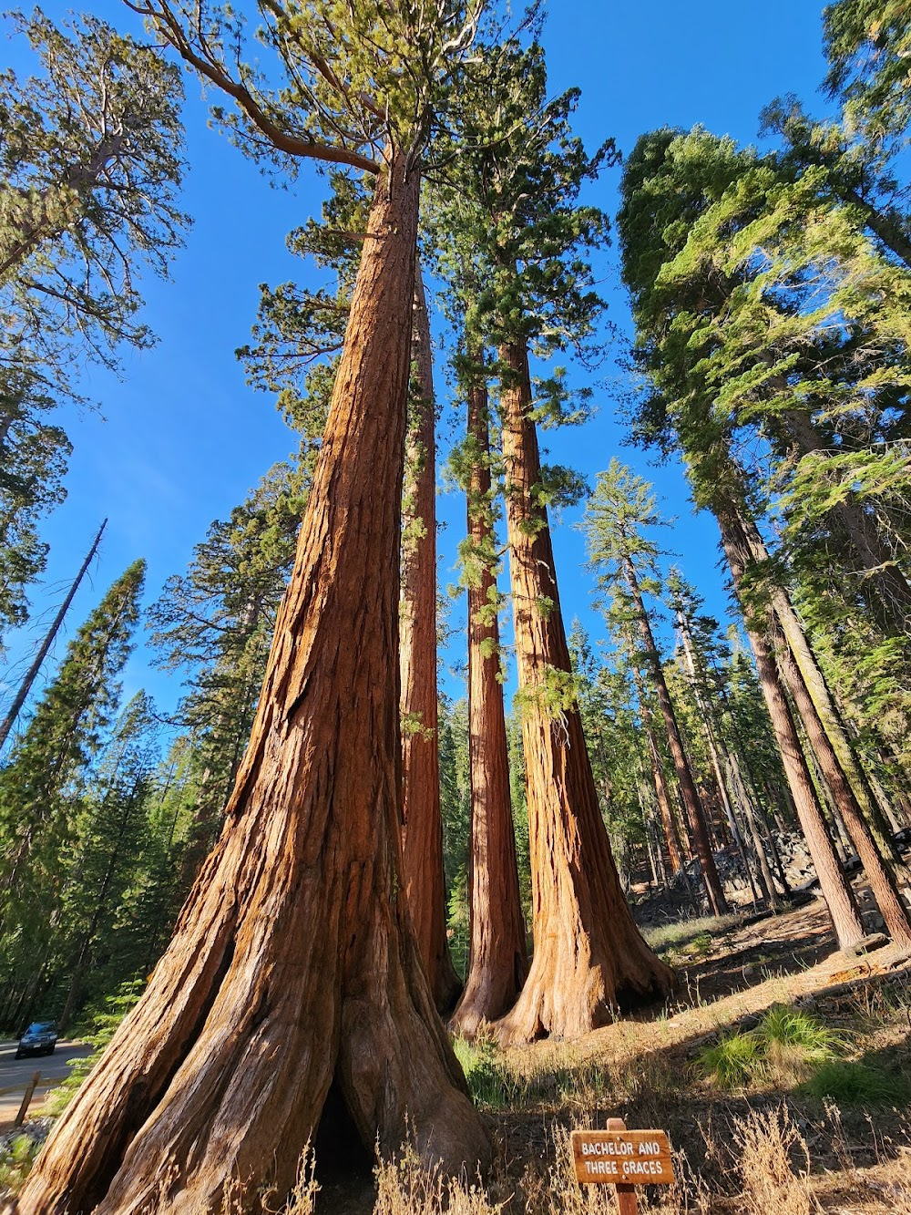
<instances>
[{"instance_id":1,"label":"sparse sunlit tree crown in the top left corner","mask_svg":"<svg viewBox=\"0 0 911 1215\"><path fill-rule=\"evenodd\" d=\"M137 266L180 244L180 72L96 17L16 18L40 74L0 75L0 366L70 395L70 339L112 363L136 322Z\"/></svg>"}]
</instances>

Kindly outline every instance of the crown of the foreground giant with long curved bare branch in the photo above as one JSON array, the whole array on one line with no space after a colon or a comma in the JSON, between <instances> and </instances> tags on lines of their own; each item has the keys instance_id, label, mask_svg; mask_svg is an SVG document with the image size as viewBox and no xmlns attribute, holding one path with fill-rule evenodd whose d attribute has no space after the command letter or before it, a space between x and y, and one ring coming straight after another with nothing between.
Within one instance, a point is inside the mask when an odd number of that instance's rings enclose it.
<instances>
[{"instance_id":1,"label":"crown of the foreground giant with long curved bare branch","mask_svg":"<svg viewBox=\"0 0 911 1215\"><path fill-rule=\"evenodd\" d=\"M134 7L232 98L236 108L213 109L231 139L287 176L299 158L374 171L390 140L417 160L446 113L485 5L278 0L255 28L230 6Z\"/></svg>"}]
</instances>

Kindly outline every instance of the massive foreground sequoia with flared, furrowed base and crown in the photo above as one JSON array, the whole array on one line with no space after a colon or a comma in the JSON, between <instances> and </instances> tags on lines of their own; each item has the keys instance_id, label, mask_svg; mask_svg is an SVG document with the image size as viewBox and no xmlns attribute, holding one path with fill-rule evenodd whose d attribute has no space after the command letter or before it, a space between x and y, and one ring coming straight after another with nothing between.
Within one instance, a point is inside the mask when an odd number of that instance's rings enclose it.
<instances>
[{"instance_id":1,"label":"massive foreground sequoia with flared, furrowed base and crown","mask_svg":"<svg viewBox=\"0 0 911 1215\"><path fill-rule=\"evenodd\" d=\"M221 1209L228 1181L261 1210L293 1183L330 1090L367 1145L396 1148L407 1115L425 1158L473 1170L490 1159L398 897L400 513L420 165L481 4L349 10L339 27L328 0L293 16L264 0L281 97L259 94L242 64L228 69L221 47L239 38L223 15L203 4L191 18L168 0L131 7L237 102L225 122L238 142L374 173L377 190L225 830L146 994L23 1188L22 1215L154 1203L200 1215Z\"/></svg>"}]
</instances>

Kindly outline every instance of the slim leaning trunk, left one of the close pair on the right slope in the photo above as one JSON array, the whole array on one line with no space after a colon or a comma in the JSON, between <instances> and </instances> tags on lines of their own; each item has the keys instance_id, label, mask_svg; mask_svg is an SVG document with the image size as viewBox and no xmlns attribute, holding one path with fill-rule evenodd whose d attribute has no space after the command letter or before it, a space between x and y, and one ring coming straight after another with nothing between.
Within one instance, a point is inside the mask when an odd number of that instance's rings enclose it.
<instances>
[{"instance_id":1,"label":"slim leaning trunk, left one of the close pair on the right slope","mask_svg":"<svg viewBox=\"0 0 911 1215\"><path fill-rule=\"evenodd\" d=\"M794 725L794 719L791 714L769 643L754 622L752 612L748 612L748 608L743 603L741 584L745 570L745 554L742 542L737 543L736 518L720 510L717 512L717 516L722 529L722 541L730 566L734 589L741 599L741 605L745 610L747 637L749 638L749 645L756 657L759 684L763 689L775 739L781 752L781 761L785 765L785 775L787 776L794 809L800 821L804 838L807 840L807 847L810 849L822 898L826 900L828 914L832 917L836 938L839 946L847 949L849 945L855 945L865 936L854 892L842 871L834 846L826 830L822 812L813 787L813 779L810 778L810 772L800 748L797 727Z\"/></svg>"}]
</instances>

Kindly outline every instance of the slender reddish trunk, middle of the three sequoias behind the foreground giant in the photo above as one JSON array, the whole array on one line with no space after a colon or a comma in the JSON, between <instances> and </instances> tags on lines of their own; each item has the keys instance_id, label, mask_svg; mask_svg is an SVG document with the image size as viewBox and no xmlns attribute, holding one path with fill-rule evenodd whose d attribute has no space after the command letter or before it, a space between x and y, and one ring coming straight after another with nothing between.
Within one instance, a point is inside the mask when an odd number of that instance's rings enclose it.
<instances>
[{"instance_id":1,"label":"slender reddish trunk, middle of the three sequoias behind the foreground giant","mask_svg":"<svg viewBox=\"0 0 911 1215\"><path fill-rule=\"evenodd\" d=\"M468 708L471 772L471 950L465 993L453 1023L465 1036L515 1004L528 973L519 893L509 748L503 707L496 537L490 462L490 406L480 360L468 396Z\"/></svg>"}]
</instances>

